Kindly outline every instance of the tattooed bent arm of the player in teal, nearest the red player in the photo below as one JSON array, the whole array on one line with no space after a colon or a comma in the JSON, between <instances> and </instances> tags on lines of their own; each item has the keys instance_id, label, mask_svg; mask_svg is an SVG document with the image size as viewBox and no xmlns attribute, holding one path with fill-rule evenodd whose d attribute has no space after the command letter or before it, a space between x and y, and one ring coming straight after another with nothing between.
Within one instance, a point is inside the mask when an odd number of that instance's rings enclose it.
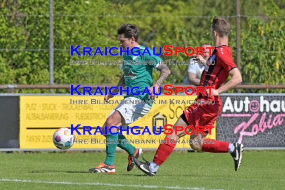
<instances>
[{"instance_id":1,"label":"tattooed bent arm of the player in teal, nearest the red player","mask_svg":"<svg viewBox=\"0 0 285 190\"><path fill-rule=\"evenodd\" d=\"M153 95L153 86L155 89L155 93L158 93L159 92L159 86L164 82L164 80L166 80L166 78L171 73L169 68L164 64L159 64L156 67L156 69L160 71L160 75L159 75L158 79L156 80L156 82L149 88L149 92L151 93L151 95L148 95L148 98L151 97L152 99L155 99L155 97L158 97L156 95Z\"/></svg>"}]
</instances>

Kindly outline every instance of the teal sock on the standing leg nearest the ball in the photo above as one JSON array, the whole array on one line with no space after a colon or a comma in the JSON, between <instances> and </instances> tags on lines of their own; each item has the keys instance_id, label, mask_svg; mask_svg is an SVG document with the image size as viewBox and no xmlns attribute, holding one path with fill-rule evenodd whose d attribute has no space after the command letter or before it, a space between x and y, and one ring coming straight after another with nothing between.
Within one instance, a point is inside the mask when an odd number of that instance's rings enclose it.
<instances>
[{"instance_id":1,"label":"teal sock on the standing leg nearest the ball","mask_svg":"<svg viewBox=\"0 0 285 190\"><path fill-rule=\"evenodd\" d=\"M114 157L118 142L118 134L107 134L106 139L111 143L106 143L106 159L104 161L104 164L106 165L113 165L114 164ZM113 141L112 141L113 140Z\"/></svg>"}]
</instances>

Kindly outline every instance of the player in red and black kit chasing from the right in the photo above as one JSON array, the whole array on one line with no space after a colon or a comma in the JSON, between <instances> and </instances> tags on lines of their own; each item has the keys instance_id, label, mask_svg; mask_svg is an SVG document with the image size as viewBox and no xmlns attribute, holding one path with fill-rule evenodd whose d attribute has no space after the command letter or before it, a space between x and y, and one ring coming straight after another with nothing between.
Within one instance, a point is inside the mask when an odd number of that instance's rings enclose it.
<instances>
[{"instance_id":1,"label":"player in red and black kit chasing from the right","mask_svg":"<svg viewBox=\"0 0 285 190\"><path fill-rule=\"evenodd\" d=\"M228 46L229 32L230 24L226 19L218 17L213 18L211 24L211 34L215 48L208 60L209 62L214 61L215 64L205 66L200 79L200 86L213 86L213 88L211 89L211 95L209 95L209 90L207 89L205 93L206 95L202 95L200 93L196 99L214 99L215 103L190 105L186 110L183 111L175 122L174 126L186 127L191 125L195 128L197 125L214 125L214 121L221 111L221 99L219 94L232 89L241 83L241 74L232 60L231 50ZM196 59L205 61L201 55L196 56ZM231 78L225 84L223 84L228 75L230 75ZM143 159L146 162L141 162L138 159L133 158L136 166L145 174L149 176L155 175L158 167L173 151L176 145L175 141L185 135L184 131L177 130L177 134L175 134L174 131L175 130L173 127L172 134L166 135L164 138L166 143L159 144L152 162L148 162L144 158ZM196 132L191 134L191 142L194 142L190 144L191 148L197 151L215 153L229 152L234 160L234 169L236 171L239 168L242 160L243 144L232 144L219 140L215 140L215 143L198 143L201 139L206 139L205 136L207 132L208 131L204 131L204 134L201 132L199 132L199 134L196 134ZM213 140L204 140L204 142L208 141L211 142Z\"/></svg>"}]
</instances>

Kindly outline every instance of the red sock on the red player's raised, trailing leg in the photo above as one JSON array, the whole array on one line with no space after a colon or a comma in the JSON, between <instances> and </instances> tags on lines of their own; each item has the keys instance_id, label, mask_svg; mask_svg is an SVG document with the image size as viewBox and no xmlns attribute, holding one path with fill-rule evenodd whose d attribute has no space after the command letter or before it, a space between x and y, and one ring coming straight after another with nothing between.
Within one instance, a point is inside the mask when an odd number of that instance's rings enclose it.
<instances>
[{"instance_id":1,"label":"red sock on the red player's raised, trailing leg","mask_svg":"<svg viewBox=\"0 0 285 190\"><path fill-rule=\"evenodd\" d=\"M229 145L228 142L214 140L214 139L210 139L210 138L206 138L205 140L209 140L209 142L214 141L214 143L213 144L203 143L202 144L202 151L214 152L214 153L227 152L228 145Z\"/></svg>"}]
</instances>

